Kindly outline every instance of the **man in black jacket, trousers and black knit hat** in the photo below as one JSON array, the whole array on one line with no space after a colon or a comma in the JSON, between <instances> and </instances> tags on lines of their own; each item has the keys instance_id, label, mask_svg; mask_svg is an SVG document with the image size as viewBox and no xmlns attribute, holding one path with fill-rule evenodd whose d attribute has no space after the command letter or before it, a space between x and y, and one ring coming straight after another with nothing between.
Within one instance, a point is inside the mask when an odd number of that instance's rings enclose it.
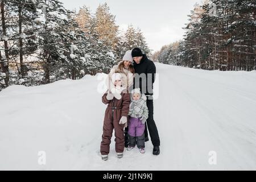
<instances>
[{"instance_id":1,"label":"man in black jacket, trousers and black knit hat","mask_svg":"<svg viewBox=\"0 0 256 182\"><path fill-rule=\"evenodd\" d=\"M144 130L145 139L148 140L147 127L150 134L151 142L154 146L153 154L160 154L160 139L158 135L158 129L155 125L153 118L154 106L153 106L153 84L155 81L156 68L153 61L149 60L145 54L142 53L141 49L134 48L131 51L133 56L133 65L135 69L134 86L133 88L140 88L141 93L147 97L148 107L148 119Z\"/></svg>"}]
</instances>

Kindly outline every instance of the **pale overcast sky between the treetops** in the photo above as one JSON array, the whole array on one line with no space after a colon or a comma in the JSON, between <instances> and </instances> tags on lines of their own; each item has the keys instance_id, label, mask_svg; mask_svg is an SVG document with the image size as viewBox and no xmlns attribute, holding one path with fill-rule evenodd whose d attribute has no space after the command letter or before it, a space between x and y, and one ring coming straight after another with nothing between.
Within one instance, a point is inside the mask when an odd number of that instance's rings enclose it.
<instances>
[{"instance_id":1,"label":"pale overcast sky between the treetops","mask_svg":"<svg viewBox=\"0 0 256 182\"><path fill-rule=\"evenodd\" d=\"M69 10L83 5L95 13L100 3L108 3L118 26L125 30L129 24L141 28L148 46L158 51L162 46L183 38L184 24L196 2L202 0L60 0Z\"/></svg>"}]
</instances>

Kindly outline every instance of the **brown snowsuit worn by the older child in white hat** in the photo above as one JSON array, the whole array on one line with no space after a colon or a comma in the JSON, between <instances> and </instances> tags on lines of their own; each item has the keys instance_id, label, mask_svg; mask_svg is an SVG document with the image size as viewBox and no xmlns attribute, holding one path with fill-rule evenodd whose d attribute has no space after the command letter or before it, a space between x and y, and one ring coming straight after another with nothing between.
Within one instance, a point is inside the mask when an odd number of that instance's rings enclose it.
<instances>
[{"instance_id":1,"label":"brown snowsuit worn by the older child in white hat","mask_svg":"<svg viewBox=\"0 0 256 182\"><path fill-rule=\"evenodd\" d=\"M107 100L106 96L108 91L102 96L102 102L108 104L105 111L103 134L101 141L101 155L109 154L109 145L112 138L113 129L115 130L115 151L123 152L125 148L125 136L123 133L124 124L119 124L122 116L126 116L129 113L130 94L128 90L123 90L121 93L122 98L117 100ZM127 119L128 121L128 119Z\"/></svg>"}]
</instances>

